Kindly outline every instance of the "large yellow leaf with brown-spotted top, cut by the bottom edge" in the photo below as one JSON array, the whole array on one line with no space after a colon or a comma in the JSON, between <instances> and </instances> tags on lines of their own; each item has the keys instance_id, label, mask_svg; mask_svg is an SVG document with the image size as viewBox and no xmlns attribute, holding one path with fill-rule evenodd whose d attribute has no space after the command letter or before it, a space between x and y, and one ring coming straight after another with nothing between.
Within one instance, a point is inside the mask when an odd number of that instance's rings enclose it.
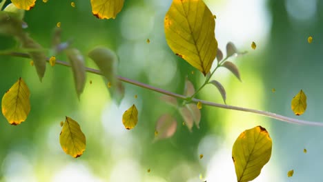
<instances>
[{"instance_id":1,"label":"large yellow leaf with brown-spotted top, cut by the bottom edge","mask_svg":"<svg viewBox=\"0 0 323 182\"><path fill-rule=\"evenodd\" d=\"M242 132L232 149L237 181L252 181L271 159L273 142L265 128L256 126Z\"/></svg>"}]
</instances>

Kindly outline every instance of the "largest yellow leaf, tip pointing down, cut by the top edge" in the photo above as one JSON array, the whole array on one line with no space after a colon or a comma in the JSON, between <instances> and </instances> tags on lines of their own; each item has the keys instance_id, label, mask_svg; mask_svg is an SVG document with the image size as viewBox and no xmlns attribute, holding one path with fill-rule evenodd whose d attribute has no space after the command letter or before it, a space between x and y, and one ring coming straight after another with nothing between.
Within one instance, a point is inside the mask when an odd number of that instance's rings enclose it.
<instances>
[{"instance_id":1,"label":"largest yellow leaf, tip pointing down, cut by the top edge","mask_svg":"<svg viewBox=\"0 0 323 182\"><path fill-rule=\"evenodd\" d=\"M173 0L164 19L164 30L175 54L204 76L210 72L217 54L215 20L202 0Z\"/></svg>"}]
</instances>

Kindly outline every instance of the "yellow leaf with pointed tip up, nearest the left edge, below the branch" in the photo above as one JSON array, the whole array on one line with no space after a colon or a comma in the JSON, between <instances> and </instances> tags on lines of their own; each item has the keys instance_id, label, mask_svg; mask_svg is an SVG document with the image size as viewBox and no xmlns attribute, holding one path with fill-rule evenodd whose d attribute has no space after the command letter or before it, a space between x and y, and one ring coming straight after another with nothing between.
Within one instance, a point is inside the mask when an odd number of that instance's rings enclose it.
<instances>
[{"instance_id":1,"label":"yellow leaf with pointed tip up, nearest the left edge, below the branch","mask_svg":"<svg viewBox=\"0 0 323 182\"><path fill-rule=\"evenodd\" d=\"M30 112L29 97L29 88L21 78L3 95L2 114L10 125L19 125L27 119Z\"/></svg>"}]
</instances>

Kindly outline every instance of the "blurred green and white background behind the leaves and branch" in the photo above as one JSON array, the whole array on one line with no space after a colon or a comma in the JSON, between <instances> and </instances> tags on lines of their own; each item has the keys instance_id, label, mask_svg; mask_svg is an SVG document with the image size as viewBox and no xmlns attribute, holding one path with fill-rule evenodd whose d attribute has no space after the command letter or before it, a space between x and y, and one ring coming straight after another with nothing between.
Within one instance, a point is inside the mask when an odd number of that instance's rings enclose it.
<instances>
[{"instance_id":1,"label":"blurred green and white background behind the leaves and branch","mask_svg":"<svg viewBox=\"0 0 323 182\"><path fill-rule=\"evenodd\" d=\"M164 15L170 0L126 0L115 20L94 17L90 1L75 1L75 8L71 2L37 1L35 8L26 12L26 31L50 48L52 31L61 22L62 39L73 39L84 55L96 45L115 50L123 77L177 93L183 92L186 76L195 88L203 83L202 74L176 57L166 44ZM239 67L242 83L222 68L213 76L226 88L227 103L322 121L323 1L205 3L217 15L219 48L225 50L226 43L233 41L239 50L248 51L231 59ZM311 44L309 36L313 37ZM251 49L252 41L257 43L256 50ZM0 35L1 50L14 45L14 39ZM59 55L57 59L66 57ZM22 77L30 88L32 105L21 125L9 125L0 117L0 181L236 181L232 145L241 132L256 125L271 134L273 153L255 181L323 181L322 128L204 106L200 129L189 132L179 114L160 101L161 94L124 83L126 97L118 106L111 101L104 79L87 74L86 88L78 101L69 68L48 65L40 83L29 62L0 57L0 92L4 94ZM89 59L86 65L96 68ZM307 95L308 108L296 117L291 99L301 89ZM222 103L211 86L197 97ZM135 129L125 130L121 116L133 103L139 110L139 122ZM155 121L164 113L174 114L177 132L170 139L153 142ZM78 159L66 155L59 145L59 122L65 116L78 121L86 134L86 152ZM204 158L199 159L199 154ZM292 169L294 175L288 178Z\"/></svg>"}]
</instances>

